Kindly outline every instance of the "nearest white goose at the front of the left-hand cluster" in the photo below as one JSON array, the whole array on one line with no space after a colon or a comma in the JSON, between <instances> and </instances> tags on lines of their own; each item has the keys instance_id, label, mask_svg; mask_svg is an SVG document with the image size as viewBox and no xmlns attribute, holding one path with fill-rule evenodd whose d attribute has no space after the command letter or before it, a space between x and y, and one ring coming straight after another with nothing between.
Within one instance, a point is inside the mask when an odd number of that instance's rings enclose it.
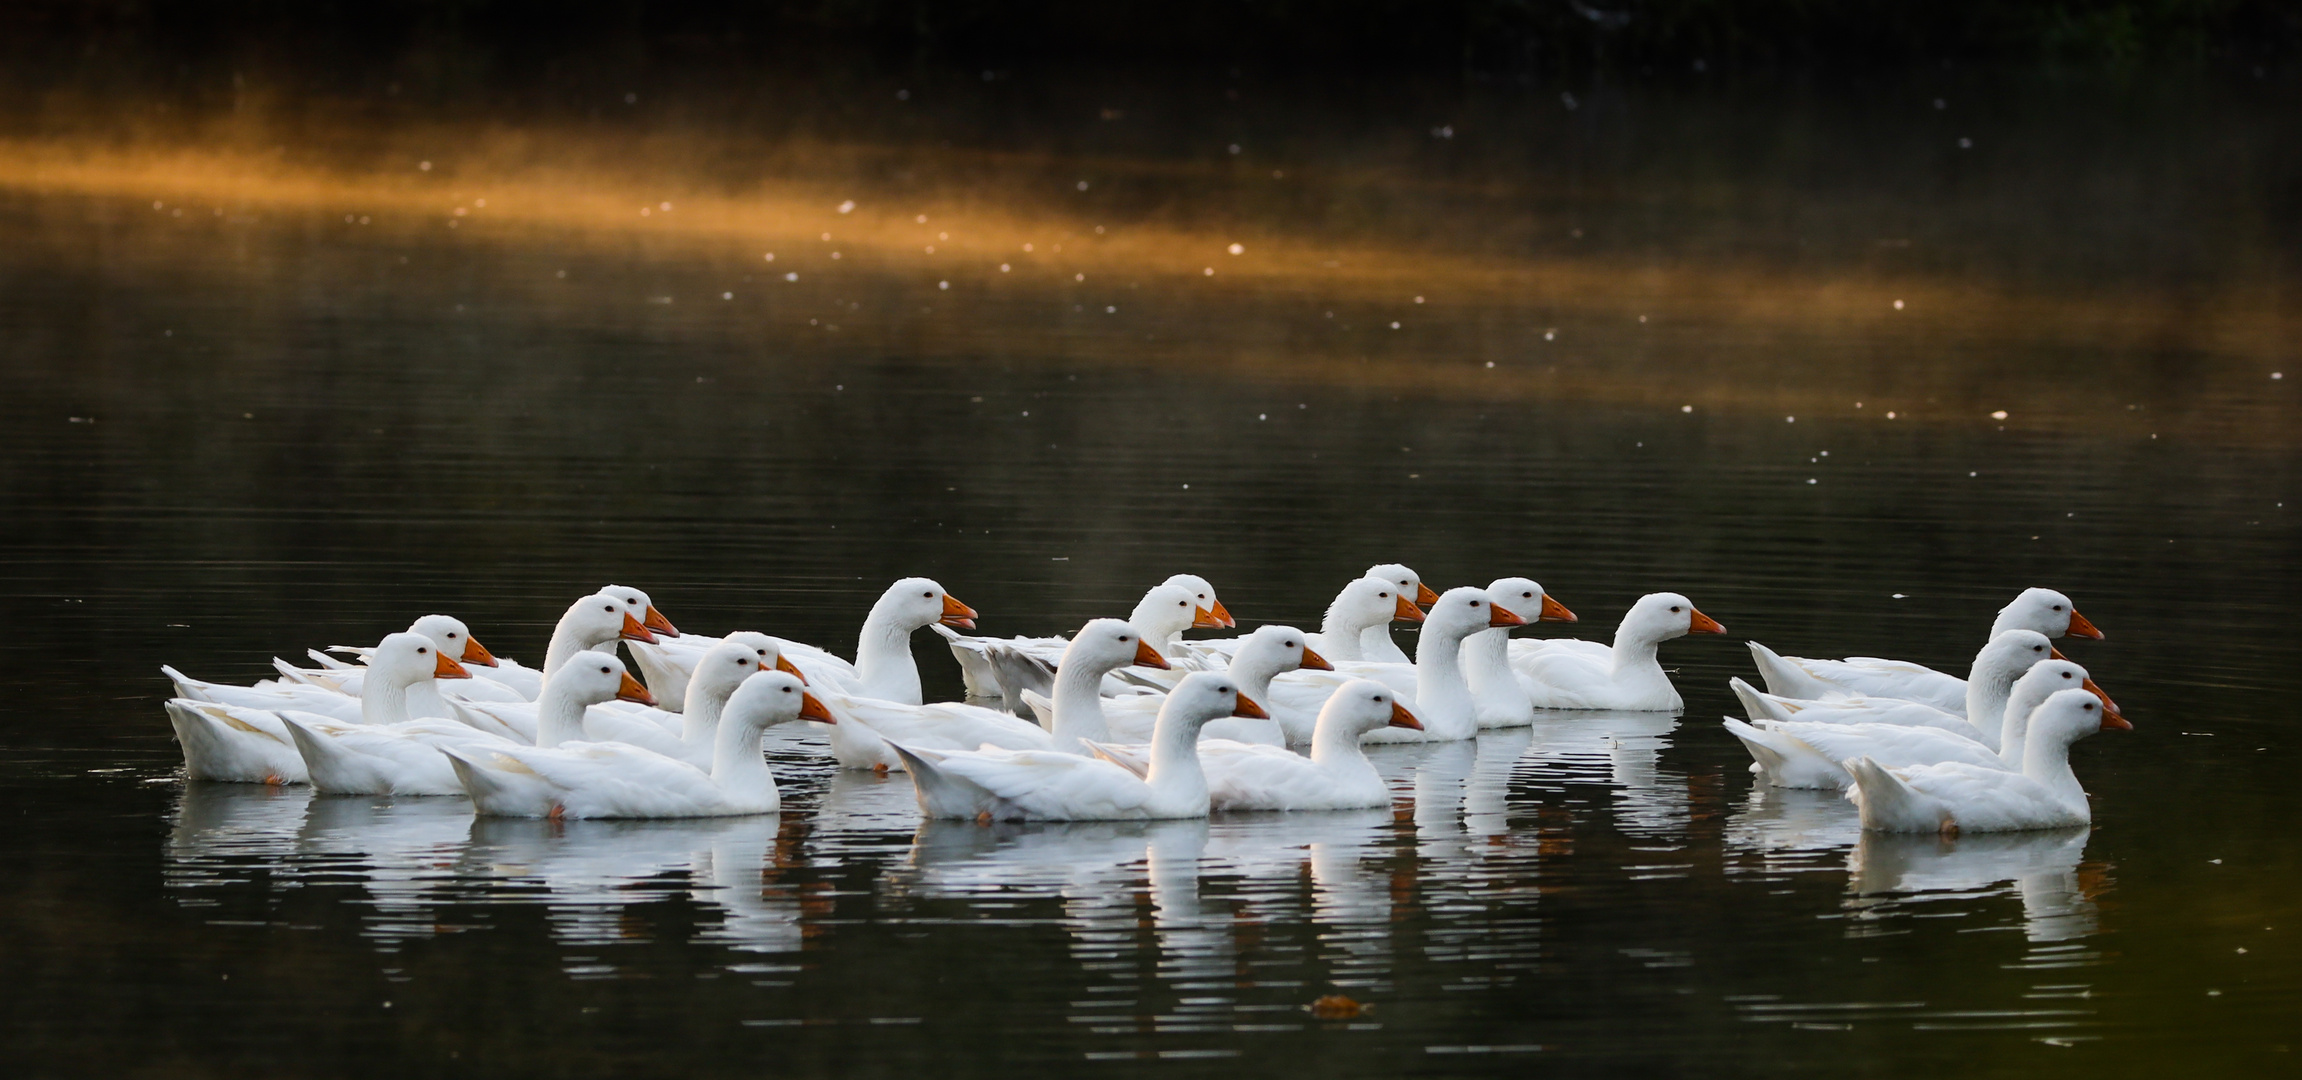
<instances>
[{"instance_id":1,"label":"nearest white goose at the front of the left-hand cluster","mask_svg":"<svg viewBox=\"0 0 2302 1080\"><path fill-rule=\"evenodd\" d=\"M603 656L610 659L610 656ZM612 659L610 659L612 661ZM605 679L594 663L555 677L585 682L599 693ZM617 666L617 675L622 675ZM755 668L755 666L753 666ZM631 682L628 675L622 675ZM633 684L635 686L635 684ZM790 672L760 672L727 698L714 739L711 771L688 762L612 741L576 741L546 748L500 748L486 755L444 751L472 794L472 808L495 817L727 817L776 813L783 804L776 774L760 755L760 735L776 723L831 721Z\"/></svg>"}]
</instances>

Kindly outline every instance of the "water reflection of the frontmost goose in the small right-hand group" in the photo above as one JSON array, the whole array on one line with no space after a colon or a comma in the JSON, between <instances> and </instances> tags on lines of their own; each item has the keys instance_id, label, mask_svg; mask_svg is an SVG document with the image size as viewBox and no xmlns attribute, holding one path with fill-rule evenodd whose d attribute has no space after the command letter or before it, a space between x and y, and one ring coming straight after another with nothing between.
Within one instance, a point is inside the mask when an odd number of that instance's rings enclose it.
<instances>
[{"instance_id":1,"label":"water reflection of the frontmost goose in the small right-hand group","mask_svg":"<svg viewBox=\"0 0 2302 1080\"><path fill-rule=\"evenodd\" d=\"M2086 937L2097 928L2095 900L2079 870L2088 834L2083 827L1954 838L1865 831L1846 857L1849 907L1996 896L2003 882L2014 882L2028 940Z\"/></svg>"}]
</instances>

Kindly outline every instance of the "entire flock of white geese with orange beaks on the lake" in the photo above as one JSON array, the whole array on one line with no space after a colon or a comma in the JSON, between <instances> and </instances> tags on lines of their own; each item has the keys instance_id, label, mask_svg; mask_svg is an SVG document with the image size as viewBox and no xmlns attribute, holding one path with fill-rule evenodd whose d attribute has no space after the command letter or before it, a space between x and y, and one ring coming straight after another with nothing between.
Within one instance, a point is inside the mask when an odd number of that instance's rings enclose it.
<instances>
[{"instance_id":1,"label":"entire flock of white geese with orange beaks on the lake","mask_svg":"<svg viewBox=\"0 0 2302 1080\"><path fill-rule=\"evenodd\" d=\"M373 647L311 649L311 668L274 659L279 677L253 686L161 670L200 781L467 797L511 817L773 813L760 739L813 723L824 739L808 744L840 767L905 771L928 817L1160 820L1388 806L1365 744L1471 739L1542 723L1542 709L1678 712L1657 647L1724 633L1655 592L1611 642L1512 638L1575 613L1526 578L1436 594L1397 564L1344 585L1317 633L1186 640L1236 626L1190 573L1070 638L981 638L974 619L942 585L905 578L872 603L849 661L755 631L679 633L645 592L610 585L569 606L541 668L426 615ZM1390 638L1400 619L1420 624L1413 659ZM944 636L969 698L999 707L923 700L918 629ZM1731 679L1747 718L1726 730L1759 778L1844 790L1865 829L2086 824L2069 746L2129 723L2049 640L2065 636L2102 638L2060 592L2026 590L1966 679L1752 642L1766 691Z\"/></svg>"}]
</instances>

